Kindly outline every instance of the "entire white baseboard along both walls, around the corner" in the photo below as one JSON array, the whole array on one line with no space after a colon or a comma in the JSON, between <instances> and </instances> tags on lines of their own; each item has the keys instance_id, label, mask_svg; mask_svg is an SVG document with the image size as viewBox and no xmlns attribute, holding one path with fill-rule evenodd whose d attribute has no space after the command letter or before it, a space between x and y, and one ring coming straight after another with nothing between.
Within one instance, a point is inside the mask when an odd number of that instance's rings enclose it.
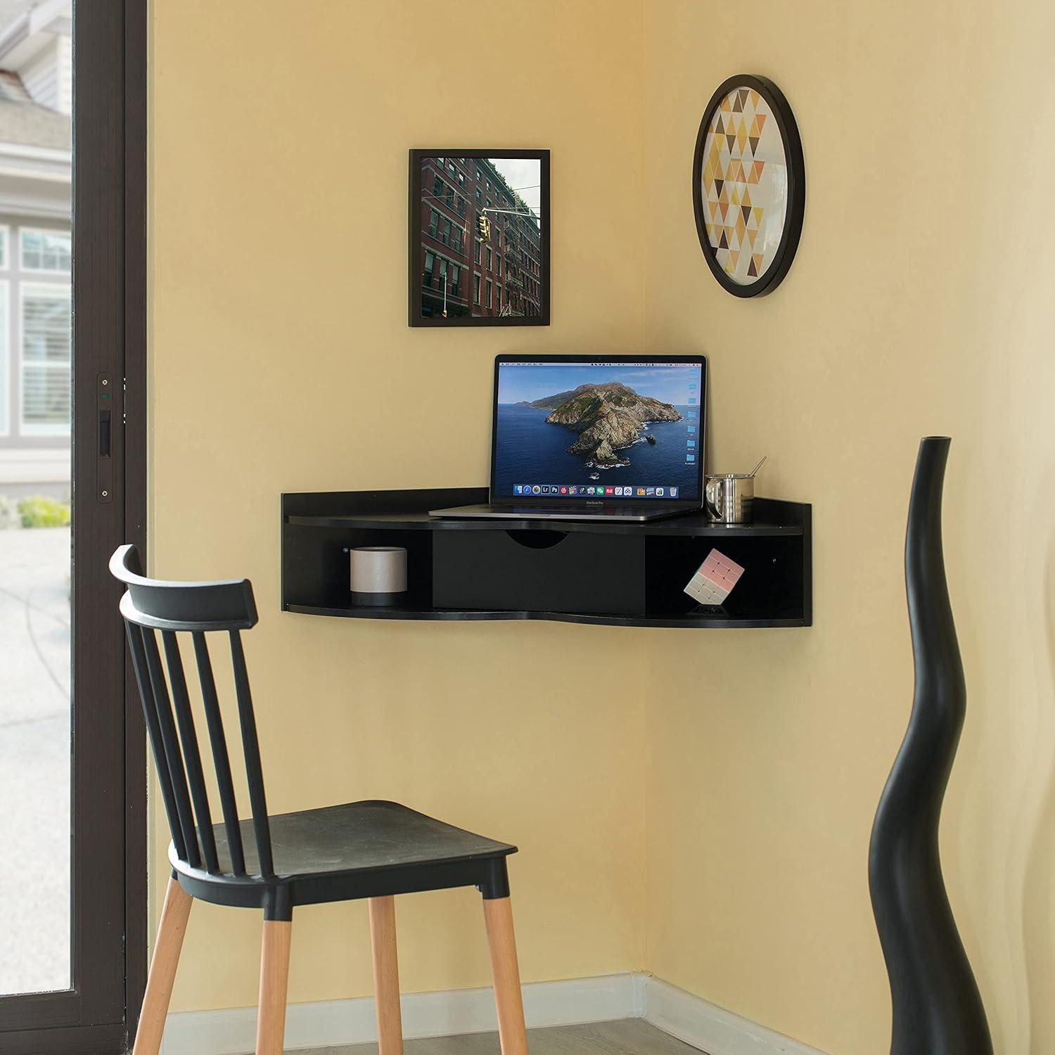
<instances>
[{"instance_id":1,"label":"entire white baseboard along both walls, around the corner","mask_svg":"<svg viewBox=\"0 0 1055 1055\"><path fill-rule=\"evenodd\" d=\"M529 1028L644 1018L708 1055L824 1055L641 972L530 982L523 997ZM407 1038L498 1028L490 989L408 993L401 1004ZM255 1008L176 1012L166 1023L161 1055L245 1055L255 1037ZM371 1040L377 1027L370 997L291 1003L286 1014L288 1051Z\"/></svg>"}]
</instances>

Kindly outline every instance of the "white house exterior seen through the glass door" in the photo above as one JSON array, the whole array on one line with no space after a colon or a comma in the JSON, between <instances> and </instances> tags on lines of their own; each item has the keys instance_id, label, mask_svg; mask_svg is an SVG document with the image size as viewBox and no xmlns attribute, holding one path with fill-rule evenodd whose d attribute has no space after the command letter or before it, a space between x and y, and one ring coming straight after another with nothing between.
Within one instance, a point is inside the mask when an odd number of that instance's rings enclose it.
<instances>
[{"instance_id":1,"label":"white house exterior seen through the glass door","mask_svg":"<svg viewBox=\"0 0 1055 1055\"><path fill-rule=\"evenodd\" d=\"M17 12L0 25L0 69L20 81L0 107L0 495L64 498L70 269L54 235L70 231L71 5L22 0Z\"/></svg>"}]
</instances>

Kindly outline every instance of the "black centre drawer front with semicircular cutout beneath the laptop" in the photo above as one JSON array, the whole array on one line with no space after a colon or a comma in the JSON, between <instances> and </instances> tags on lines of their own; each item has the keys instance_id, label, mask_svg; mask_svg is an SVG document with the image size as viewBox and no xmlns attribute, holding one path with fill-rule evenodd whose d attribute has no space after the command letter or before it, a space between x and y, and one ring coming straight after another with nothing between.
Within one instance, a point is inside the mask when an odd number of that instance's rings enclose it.
<instances>
[{"instance_id":1,"label":"black centre drawer front with semicircular cutout beneath the laptop","mask_svg":"<svg viewBox=\"0 0 1055 1055\"><path fill-rule=\"evenodd\" d=\"M525 612L645 612L644 535L433 532L433 605Z\"/></svg>"}]
</instances>

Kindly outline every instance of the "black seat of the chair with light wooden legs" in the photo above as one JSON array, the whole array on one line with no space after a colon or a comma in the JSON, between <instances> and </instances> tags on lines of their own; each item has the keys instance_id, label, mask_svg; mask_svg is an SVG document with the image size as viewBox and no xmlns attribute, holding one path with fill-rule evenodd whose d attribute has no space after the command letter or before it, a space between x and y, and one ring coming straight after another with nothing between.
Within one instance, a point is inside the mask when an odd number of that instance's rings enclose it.
<instances>
[{"instance_id":1,"label":"black seat of the chair with light wooden legs","mask_svg":"<svg viewBox=\"0 0 1055 1055\"><path fill-rule=\"evenodd\" d=\"M287 888L291 904L349 900L478 885L497 880L497 862L517 848L444 824L395 802L350 802L341 806L279 813L269 818L274 876L260 876L252 821L242 821L244 877L232 877L227 829L213 825L219 867L227 875L191 868L170 849L172 866L188 893L222 904L257 905L262 886ZM485 895L487 894L484 890ZM504 896L498 889L493 897ZM266 899L265 899L266 900Z\"/></svg>"}]
</instances>

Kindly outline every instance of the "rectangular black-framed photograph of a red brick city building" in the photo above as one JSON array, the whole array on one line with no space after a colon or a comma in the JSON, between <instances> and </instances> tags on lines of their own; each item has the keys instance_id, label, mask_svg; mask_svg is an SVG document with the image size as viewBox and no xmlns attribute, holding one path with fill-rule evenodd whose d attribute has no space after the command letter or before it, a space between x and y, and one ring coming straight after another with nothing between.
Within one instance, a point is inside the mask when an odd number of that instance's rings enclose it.
<instances>
[{"instance_id":1,"label":"rectangular black-framed photograph of a red brick city building","mask_svg":"<svg viewBox=\"0 0 1055 1055\"><path fill-rule=\"evenodd\" d=\"M411 326L550 325L550 152L410 151Z\"/></svg>"}]
</instances>

